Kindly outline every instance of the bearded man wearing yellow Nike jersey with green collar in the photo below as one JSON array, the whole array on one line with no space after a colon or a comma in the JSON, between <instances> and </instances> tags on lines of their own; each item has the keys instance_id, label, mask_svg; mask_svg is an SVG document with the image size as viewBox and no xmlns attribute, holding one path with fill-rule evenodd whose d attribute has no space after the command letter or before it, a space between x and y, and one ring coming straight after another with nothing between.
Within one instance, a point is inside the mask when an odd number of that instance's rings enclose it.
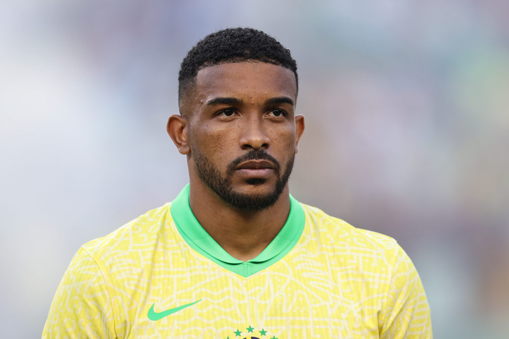
<instances>
[{"instance_id":1,"label":"bearded man wearing yellow Nike jersey with green collar","mask_svg":"<svg viewBox=\"0 0 509 339\"><path fill-rule=\"evenodd\" d=\"M290 51L263 32L224 29L193 47L167 124L188 186L81 247L43 337L431 338L395 240L289 194L297 89Z\"/></svg>"}]
</instances>

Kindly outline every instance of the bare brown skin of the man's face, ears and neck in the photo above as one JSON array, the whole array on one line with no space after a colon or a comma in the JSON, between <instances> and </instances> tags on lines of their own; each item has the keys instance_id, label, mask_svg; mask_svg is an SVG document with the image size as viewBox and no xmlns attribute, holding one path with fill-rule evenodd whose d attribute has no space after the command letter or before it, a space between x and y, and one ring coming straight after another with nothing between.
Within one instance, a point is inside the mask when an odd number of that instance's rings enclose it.
<instances>
[{"instance_id":1,"label":"bare brown skin of the man's face, ears and neck","mask_svg":"<svg viewBox=\"0 0 509 339\"><path fill-rule=\"evenodd\" d=\"M198 72L195 87L180 102L182 115L168 119L168 134L187 155L191 210L234 258L255 258L285 224L288 182L272 205L243 210L221 199L202 177L205 172L227 180L220 185L230 184L241 197L273 194L304 131L296 100L295 76L284 67L252 61L216 65ZM260 153L264 160L246 160Z\"/></svg>"}]
</instances>

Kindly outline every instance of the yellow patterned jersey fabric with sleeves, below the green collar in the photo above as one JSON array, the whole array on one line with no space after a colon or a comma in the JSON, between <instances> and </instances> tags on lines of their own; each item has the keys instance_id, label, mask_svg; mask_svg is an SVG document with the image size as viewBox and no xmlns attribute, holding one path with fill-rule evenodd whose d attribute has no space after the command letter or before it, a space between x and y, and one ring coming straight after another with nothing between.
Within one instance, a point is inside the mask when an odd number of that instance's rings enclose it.
<instances>
[{"instance_id":1,"label":"yellow patterned jersey fabric with sleeves, below the green collar","mask_svg":"<svg viewBox=\"0 0 509 339\"><path fill-rule=\"evenodd\" d=\"M432 338L425 292L397 242L302 205L294 248L244 278L195 252L171 204L83 245L43 338ZM196 302L160 320L155 312Z\"/></svg>"}]
</instances>

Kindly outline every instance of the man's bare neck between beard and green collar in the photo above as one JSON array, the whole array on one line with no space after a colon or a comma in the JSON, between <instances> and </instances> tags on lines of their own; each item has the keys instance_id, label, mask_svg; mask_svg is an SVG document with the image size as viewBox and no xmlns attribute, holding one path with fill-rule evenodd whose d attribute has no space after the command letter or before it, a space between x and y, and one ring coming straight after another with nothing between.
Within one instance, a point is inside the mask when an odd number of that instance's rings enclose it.
<instances>
[{"instance_id":1,"label":"man's bare neck between beard and green collar","mask_svg":"<svg viewBox=\"0 0 509 339\"><path fill-rule=\"evenodd\" d=\"M189 205L209 235L232 257L256 258L285 225L290 212L288 184L270 207L250 213L224 203L201 183L190 183Z\"/></svg>"}]
</instances>

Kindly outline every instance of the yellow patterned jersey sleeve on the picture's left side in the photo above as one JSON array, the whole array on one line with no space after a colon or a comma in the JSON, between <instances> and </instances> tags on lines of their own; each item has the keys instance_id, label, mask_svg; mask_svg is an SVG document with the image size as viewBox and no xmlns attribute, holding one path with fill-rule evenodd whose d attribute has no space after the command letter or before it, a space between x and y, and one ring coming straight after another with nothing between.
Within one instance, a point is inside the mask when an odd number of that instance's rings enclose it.
<instances>
[{"instance_id":1,"label":"yellow patterned jersey sleeve on the picture's left side","mask_svg":"<svg viewBox=\"0 0 509 339\"><path fill-rule=\"evenodd\" d=\"M103 273L83 248L56 290L42 338L115 338L111 299Z\"/></svg>"}]
</instances>

